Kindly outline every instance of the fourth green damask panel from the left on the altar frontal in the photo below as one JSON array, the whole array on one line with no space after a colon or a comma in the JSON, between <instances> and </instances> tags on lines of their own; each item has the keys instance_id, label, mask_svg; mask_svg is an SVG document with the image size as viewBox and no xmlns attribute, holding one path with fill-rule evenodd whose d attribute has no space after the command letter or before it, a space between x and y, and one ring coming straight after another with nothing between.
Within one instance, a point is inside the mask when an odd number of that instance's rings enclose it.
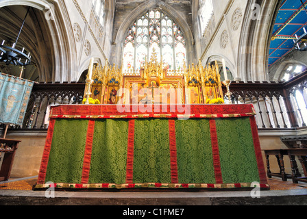
<instances>
[{"instance_id":1,"label":"fourth green damask panel from the left on the altar frontal","mask_svg":"<svg viewBox=\"0 0 307 219\"><path fill-rule=\"evenodd\" d=\"M178 177L182 183L216 183L207 119L177 120Z\"/></svg>"}]
</instances>

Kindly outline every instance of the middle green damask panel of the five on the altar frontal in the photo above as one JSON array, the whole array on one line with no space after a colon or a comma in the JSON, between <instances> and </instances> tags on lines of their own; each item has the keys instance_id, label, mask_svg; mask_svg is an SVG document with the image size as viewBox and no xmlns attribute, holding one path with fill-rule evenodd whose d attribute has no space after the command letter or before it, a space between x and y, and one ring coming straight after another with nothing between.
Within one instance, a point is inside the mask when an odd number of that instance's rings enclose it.
<instances>
[{"instance_id":1,"label":"middle green damask panel of the five on the altar frontal","mask_svg":"<svg viewBox=\"0 0 307 219\"><path fill-rule=\"evenodd\" d=\"M136 120L134 183L171 183L169 120Z\"/></svg>"}]
</instances>

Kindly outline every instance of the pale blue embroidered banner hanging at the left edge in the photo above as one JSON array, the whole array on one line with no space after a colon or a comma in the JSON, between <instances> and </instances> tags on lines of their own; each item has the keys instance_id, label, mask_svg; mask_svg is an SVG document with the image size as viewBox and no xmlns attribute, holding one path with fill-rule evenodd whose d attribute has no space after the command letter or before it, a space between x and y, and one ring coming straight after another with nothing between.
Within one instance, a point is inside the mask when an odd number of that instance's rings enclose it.
<instances>
[{"instance_id":1,"label":"pale blue embroidered banner hanging at the left edge","mask_svg":"<svg viewBox=\"0 0 307 219\"><path fill-rule=\"evenodd\" d=\"M34 81L0 74L0 123L23 125L33 86Z\"/></svg>"}]
</instances>

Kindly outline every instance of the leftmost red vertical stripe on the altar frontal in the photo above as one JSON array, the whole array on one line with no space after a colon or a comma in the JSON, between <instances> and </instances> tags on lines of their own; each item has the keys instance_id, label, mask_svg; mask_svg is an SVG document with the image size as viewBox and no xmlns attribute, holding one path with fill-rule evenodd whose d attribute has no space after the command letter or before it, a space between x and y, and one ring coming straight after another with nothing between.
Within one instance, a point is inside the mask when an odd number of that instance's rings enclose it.
<instances>
[{"instance_id":1,"label":"leftmost red vertical stripe on the altar frontal","mask_svg":"<svg viewBox=\"0 0 307 219\"><path fill-rule=\"evenodd\" d=\"M44 149L44 152L42 153L42 162L40 163L40 173L38 175L38 182L37 182L38 185L45 183L55 124L56 124L56 119L50 118L49 129L48 129L47 138L45 142L45 149Z\"/></svg>"}]
</instances>

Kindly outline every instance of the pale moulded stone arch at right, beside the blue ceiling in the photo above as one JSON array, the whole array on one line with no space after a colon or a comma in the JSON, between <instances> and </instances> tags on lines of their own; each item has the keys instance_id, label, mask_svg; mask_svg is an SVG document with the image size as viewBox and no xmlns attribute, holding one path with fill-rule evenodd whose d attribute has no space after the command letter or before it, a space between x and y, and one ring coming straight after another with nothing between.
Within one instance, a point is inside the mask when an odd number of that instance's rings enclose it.
<instances>
[{"instance_id":1,"label":"pale moulded stone arch at right, beside the blue ceiling","mask_svg":"<svg viewBox=\"0 0 307 219\"><path fill-rule=\"evenodd\" d=\"M271 24L277 16L279 3L271 0L247 1L237 59L238 77L242 81L268 80ZM256 17L255 4L260 5L261 9Z\"/></svg>"}]
</instances>

